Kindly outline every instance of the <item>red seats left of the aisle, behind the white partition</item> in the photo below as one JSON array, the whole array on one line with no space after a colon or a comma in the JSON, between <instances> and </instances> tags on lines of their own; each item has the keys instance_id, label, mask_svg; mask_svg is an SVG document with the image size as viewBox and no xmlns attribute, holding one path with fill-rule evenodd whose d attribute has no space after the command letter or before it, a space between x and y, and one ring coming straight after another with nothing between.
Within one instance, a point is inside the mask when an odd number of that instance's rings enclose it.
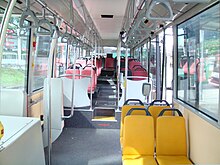
<instances>
[{"instance_id":1,"label":"red seats left of the aisle, behind the white partition","mask_svg":"<svg viewBox=\"0 0 220 165\"><path fill-rule=\"evenodd\" d=\"M96 66L94 65L96 61ZM87 76L91 76L91 83L88 86L88 93L92 91L95 92L97 86L97 78L101 74L102 70L102 60L86 60L86 59L77 59L76 60L76 67L69 67L66 70L67 78L72 79L73 72L75 73L75 79L85 78Z\"/></svg>"}]
</instances>

